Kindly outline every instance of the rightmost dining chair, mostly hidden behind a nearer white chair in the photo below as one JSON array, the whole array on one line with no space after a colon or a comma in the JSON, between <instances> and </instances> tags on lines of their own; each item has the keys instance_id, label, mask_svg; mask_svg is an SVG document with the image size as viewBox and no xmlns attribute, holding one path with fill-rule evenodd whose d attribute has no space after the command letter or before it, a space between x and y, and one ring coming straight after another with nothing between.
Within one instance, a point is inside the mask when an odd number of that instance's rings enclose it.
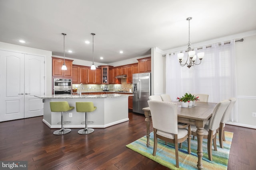
<instances>
[{"instance_id":1,"label":"rightmost dining chair, mostly hidden behind a nearer white chair","mask_svg":"<svg viewBox=\"0 0 256 170\"><path fill-rule=\"evenodd\" d=\"M220 129L219 129L219 141L220 141L220 147L223 147L223 141L226 141L225 139L225 133L224 133L224 127L225 123L230 119L230 113L231 110L236 103L236 98L230 98L228 99L230 101L230 104L228 105L228 108L226 109L221 121L220 121Z\"/></svg>"}]
</instances>

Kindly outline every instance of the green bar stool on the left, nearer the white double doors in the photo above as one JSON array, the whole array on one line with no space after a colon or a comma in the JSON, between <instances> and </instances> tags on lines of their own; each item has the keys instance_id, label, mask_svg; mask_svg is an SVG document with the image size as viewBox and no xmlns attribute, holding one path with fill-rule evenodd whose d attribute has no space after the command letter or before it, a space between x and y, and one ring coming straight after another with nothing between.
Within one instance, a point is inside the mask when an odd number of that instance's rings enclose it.
<instances>
[{"instance_id":1,"label":"green bar stool on the left, nearer the white double doors","mask_svg":"<svg viewBox=\"0 0 256 170\"><path fill-rule=\"evenodd\" d=\"M60 112L61 111L61 129L54 131L54 135L64 135L69 133L71 129L64 129L64 111L69 111L74 109L75 107L69 106L68 102L50 102L50 107L52 112Z\"/></svg>"}]
</instances>

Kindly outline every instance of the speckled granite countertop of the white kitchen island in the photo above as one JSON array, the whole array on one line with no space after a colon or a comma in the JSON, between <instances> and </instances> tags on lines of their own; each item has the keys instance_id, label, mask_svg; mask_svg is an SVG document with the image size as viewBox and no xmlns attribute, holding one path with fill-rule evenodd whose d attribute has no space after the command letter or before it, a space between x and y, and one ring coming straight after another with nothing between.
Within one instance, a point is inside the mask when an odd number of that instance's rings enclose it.
<instances>
[{"instance_id":1,"label":"speckled granite countertop of the white kitchen island","mask_svg":"<svg viewBox=\"0 0 256 170\"><path fill-rule=\"evenodd\" d=\"M77 99L77 98L120 98L120 97L128 97L128 96L134 96L133 94L82 94L80 97L79 94L76 95L50 95L50 96L35 96L37 98L42 99Z\"/></svg>"}]
</instances>

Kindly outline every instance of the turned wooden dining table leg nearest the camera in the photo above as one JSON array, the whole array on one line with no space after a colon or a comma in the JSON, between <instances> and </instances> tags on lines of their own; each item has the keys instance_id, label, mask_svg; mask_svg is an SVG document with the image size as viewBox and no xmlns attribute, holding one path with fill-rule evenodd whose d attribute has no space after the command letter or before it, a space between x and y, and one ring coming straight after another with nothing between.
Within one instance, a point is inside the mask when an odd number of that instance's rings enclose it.
<instances>
[{"instance_id":1,"label":"turned wooden dining table leg nearest the camera","mask_svg":"<svg viewBox=\"0 0 256 170\"><path fill-rule=\"evenodd\" d=\"M196 135L197 135L197 156L198 156L198 162L197 162L197 168L199 170L203 169L202 164L202 158L203 158L203 137L204 137L204 131L203 127L197 127L196 129Z\"/></svg>"}]
</instances>

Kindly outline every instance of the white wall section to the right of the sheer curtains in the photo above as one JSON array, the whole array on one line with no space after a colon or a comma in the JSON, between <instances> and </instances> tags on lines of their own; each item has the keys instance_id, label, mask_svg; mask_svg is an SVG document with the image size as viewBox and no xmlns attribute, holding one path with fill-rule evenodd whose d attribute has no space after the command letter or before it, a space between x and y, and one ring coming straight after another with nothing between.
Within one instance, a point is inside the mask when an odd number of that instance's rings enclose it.
<instances>
[{"instance_id":1,"label":"white wall section to the right of the sheer curtains","mask_svg":"<svg viewBox=\"0 0 256 170\"><path fill-rule=\"evenodd\" d=\"M236 43L237 109L238 115L230 124L256 129L256 35Z\"/></svg>"}]
</instances>

